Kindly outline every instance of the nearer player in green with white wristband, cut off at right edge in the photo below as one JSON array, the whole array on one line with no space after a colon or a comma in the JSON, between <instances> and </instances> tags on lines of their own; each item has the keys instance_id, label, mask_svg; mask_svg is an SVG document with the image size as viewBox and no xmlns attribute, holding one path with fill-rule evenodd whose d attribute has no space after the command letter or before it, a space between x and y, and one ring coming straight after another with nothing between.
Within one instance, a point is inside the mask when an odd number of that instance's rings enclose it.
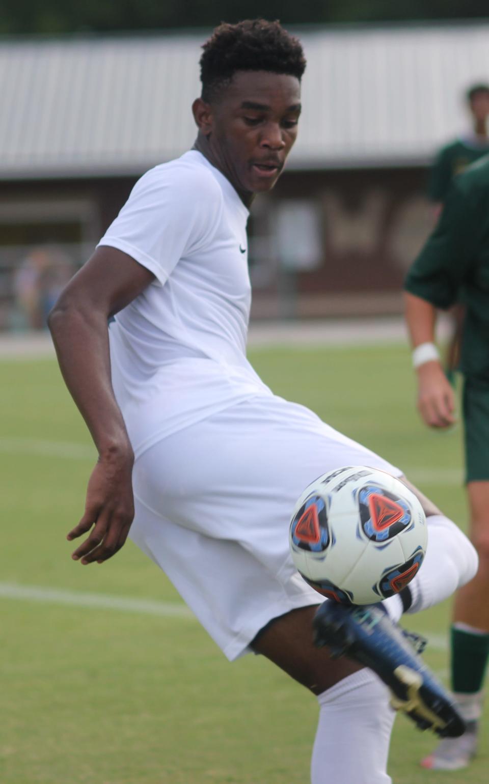
<instances>
[{"instance_id":1,"label":"nearer player in green with white wristband, cut off at right edge","mask_svg":"<svg viewBox=\"0 0 489 784\"><path fill-rule=\"evenodd\" d=\"M460 176L447 194L440 219L407 274L406 318L418 374L418 409L434 428L451 426L454 390L434 344L436 310L460 296L465 303L460 369L470 534L480 566L455 598L451 627L451 677L465 735L443 741L421 764L464 768L476 753L482 687L489 656L489 155Z\"/></svg>"}]
</instances>

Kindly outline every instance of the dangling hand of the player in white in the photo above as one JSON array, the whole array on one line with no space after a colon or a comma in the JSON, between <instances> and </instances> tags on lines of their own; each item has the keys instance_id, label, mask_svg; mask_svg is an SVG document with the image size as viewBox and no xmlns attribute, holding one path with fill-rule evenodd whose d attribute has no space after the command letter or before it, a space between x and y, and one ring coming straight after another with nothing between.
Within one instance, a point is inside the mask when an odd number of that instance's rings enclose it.
<instances>
[{"instance_id":1,"label":"dangling hand of the player in white","mask_svg":"<svg viewBox=\"0 0 489 784\"><path fill-rule=\"evenodd\" d=\"M85 514L67 539L90 531L71 555L74 561L101 564L125 543L134 517L132 456L100 460L89 478Z\"/></svg>"}]
</instances>

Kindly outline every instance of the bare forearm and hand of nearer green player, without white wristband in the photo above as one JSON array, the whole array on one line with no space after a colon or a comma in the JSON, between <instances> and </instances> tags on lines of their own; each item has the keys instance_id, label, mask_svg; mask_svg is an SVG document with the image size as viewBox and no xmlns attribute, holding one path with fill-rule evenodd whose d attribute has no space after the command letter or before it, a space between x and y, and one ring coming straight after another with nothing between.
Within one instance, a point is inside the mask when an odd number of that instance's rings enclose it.
<instances>
[{"instance_id":1,"label":"bare forearm and hand of nearer green player, without white wristband","mask_svg":"<svg viewBox=\"0 0 489 784\"><path fill-rule=\"evenodd\" d=\"M426 299L404 292L405 317L413 348L435 342L436 307ZM418 375L418 411L431 427L448 427L454 416L454 391L438 360L425 362Z\"/></svg>"}]
</instances>

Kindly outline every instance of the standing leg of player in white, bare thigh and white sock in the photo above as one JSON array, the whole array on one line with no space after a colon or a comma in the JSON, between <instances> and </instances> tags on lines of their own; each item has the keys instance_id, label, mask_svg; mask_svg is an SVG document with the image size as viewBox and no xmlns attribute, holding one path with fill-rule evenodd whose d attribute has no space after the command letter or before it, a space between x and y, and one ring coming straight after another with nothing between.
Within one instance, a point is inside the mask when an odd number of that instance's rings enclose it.
<instances>
[{"instance_id":1,"label":"standing leg of player in white, bare thigh and white sock","mask_svg":"<svg viewBox=\"0 0 489 784\"><path fill-rule=\"evenodd\" d=\"M389 784L389 691L374 673L314 647L315 612L301 608L274 619L251 647L318 695L312 784Z\"/></svg>"}]
</instances>

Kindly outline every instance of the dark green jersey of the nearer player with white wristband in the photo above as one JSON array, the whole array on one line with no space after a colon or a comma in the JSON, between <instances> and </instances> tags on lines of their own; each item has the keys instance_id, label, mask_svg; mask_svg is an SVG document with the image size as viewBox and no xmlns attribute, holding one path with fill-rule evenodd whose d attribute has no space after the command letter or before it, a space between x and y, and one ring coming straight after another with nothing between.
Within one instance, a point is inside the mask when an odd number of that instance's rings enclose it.
<instances>
[{"instance_id":1,"label":"dark green jersey of the nearer player with white wristband","mask_svg":"<svg viewBox=\"0 0 489 784\"><path fill-rule=\"evenodd\" d=\"M455 178L405 289L436 307L461 298L461 370L489 379L489 155Z\"/></svg>"}]
</instances>

